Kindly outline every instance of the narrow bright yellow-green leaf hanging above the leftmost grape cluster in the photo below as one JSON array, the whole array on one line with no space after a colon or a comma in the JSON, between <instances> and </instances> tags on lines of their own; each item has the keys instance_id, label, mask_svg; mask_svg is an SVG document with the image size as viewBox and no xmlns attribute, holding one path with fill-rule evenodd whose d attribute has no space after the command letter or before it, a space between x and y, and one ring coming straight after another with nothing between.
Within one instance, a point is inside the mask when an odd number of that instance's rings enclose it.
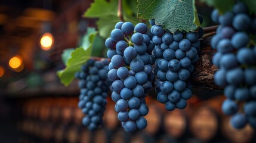
<instances>
[{"instance_id":1,"label":"narrow bright yellow-green leaf hanging above the leftmost grape cluster","mask_svg":"<svg viewBox=\"0 0 256 143\"><path fill-rule=\"evenodd\" d=\"M82 64L86 63L91 57L92 44L94 43L97 32L88 33L87 47L76 48L71 52L69 60L67 60L67 66L63 70L58 70L57 75L60 78L60 82L65 86L69 85L75 77L75 73L81 70Z\"/></svg>"}]
</instances>

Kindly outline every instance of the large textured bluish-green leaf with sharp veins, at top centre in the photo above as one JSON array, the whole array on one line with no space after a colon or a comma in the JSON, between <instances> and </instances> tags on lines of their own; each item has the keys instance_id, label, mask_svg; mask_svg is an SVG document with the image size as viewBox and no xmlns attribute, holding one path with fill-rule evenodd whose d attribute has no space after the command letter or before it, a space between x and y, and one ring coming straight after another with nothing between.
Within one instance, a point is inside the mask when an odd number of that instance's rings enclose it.
<instances>
[{"instance_id":1,"label":"large textured bluish-green leaf with sharp veins, at top centre","mask_svg":"<svg viewBox=\"0 0 256 143\"><path fill-rule=\"evenodd\" d=\"M200 26L192 0L138 0L138 18L153 19L170 32L189 32Z\"/></svg>"}]
</instances>

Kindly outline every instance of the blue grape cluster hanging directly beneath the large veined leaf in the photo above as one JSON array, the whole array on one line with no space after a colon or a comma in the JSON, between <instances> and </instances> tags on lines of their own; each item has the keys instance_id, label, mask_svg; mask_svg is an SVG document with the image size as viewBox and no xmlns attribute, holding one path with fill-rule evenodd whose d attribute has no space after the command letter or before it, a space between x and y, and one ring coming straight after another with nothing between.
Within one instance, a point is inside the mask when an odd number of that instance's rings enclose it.
<instances>
[{"instance_id":1,"label":"blue grape cluster hanging directly beneath the large veined leaf","mask_svg":"<svg viewBox=\"0 0 256 143\"><path fill-rule=\"evenodd\" d=\"M202 23L202 17L199 15ZM189 83L190 74L194 65L199 60L200 41L203 30L200 27L198 32L180 32L174 34L163 29L161 25L150 20L151 32L155 48L153 55L156 57L155 73L157 100L165 104L168 111L175 108L183 109L192 96Z\"/></svg>"}]
</instances>

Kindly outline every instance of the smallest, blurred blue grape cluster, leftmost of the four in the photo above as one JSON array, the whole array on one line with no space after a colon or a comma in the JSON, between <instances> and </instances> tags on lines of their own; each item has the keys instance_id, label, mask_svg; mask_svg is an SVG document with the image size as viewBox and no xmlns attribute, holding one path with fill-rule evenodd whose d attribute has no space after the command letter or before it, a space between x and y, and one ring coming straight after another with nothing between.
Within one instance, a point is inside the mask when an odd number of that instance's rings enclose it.
<instances>
[{"instance_id":1,"label":"smallest, blurred blue grape cluster, leftmost of the four","mask_svg":"<svg viewBox=\"0 0 256 143\"><path fill-rule=\"evenodd\" d=\"M95 61L90 59L82 66L82 71L76 73L81 89L78 107L87 114L82 124L89 130L95 130L102 123L102 116L107 104L106 97L111 85L107 79L109 61Z\"/></svg>"}]
</instances>

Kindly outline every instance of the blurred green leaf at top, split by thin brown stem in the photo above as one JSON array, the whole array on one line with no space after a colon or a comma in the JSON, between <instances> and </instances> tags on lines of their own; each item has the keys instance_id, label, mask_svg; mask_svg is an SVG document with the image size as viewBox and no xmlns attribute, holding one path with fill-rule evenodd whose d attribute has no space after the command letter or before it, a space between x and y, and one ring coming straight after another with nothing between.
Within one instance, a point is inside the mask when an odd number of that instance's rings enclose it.
<instances>
[{"instance_id":1,"label":"blurred green leaf at top, split by thin brown stem","mask_svg":"<svg viewBox=\"0 0 256 143\"><path fill-rule=\"evenodd\" d=\"M131 6L136 5L135 2L129 0L122 2L123 17L125 21L130 21L133 24L138 23L137 17L134 13L135 9ZM132 4L132 5L129 5ZM97 27L99 35L103 38L109 38L110 32L114 29L115 24L120 21L118 15L118 1L117 0L95 0L91 7L84 13L84 17L98 18Z\"/></svg>"}]
</instances>

